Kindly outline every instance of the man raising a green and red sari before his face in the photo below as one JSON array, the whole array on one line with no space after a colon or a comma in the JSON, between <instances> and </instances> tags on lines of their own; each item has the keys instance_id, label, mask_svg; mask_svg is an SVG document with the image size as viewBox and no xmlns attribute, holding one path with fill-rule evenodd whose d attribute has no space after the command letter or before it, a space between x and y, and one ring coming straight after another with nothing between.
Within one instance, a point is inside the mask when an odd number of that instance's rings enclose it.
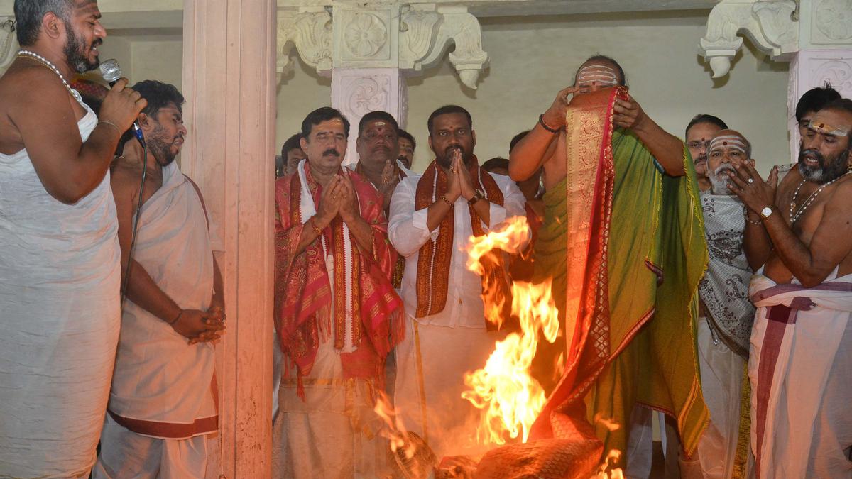
<instances>
[{"instance_id":1,"label":"man raising a green and red sari before his face","mask_svg":"<svg viewBox=\"0 0 852 479\"><path fill-rule=\"evenodd\" d=\"M639 405L675 418L690 455L708 420L694 336L707 264L699 190L683 142L624 84L617 62L591 57L510 155L515 181L544 166L533 282L553 280L564 334L538 354L549 397L532 438L559 438L559 417L585 406L603 450L625 452Z\"/></svg>"}]
</instances>

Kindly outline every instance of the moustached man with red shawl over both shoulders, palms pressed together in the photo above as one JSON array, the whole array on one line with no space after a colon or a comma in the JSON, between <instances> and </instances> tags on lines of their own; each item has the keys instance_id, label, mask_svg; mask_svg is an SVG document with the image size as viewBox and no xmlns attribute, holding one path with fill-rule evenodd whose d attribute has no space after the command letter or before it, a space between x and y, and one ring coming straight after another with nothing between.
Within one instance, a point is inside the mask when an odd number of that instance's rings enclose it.
<instances>
[{"instance_id":1,"label":"moustached man with red shawl over both shoulders, palms pressed together","mask_svg":"<svg viewBox=\"0 0 852 479\"><path fill-rule=\"evenodd\" d=\"M285 361L276 477L376 476L384 464L372 407L402 337L402 303L382 198L341 167L348 129L333 108L309 113L308 161L276 182L274 320Z\"/></svg>"}]
</instances>

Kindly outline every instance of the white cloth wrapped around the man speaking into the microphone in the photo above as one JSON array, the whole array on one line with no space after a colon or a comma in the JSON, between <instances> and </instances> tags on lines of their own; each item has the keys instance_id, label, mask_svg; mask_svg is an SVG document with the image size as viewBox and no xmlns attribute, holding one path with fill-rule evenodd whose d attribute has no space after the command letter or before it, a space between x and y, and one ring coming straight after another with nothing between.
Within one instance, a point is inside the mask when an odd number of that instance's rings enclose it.
<instances>
[{"instance_id":1,"label":"white cloth wrapped around the man speaking into the microphone","mask_svg":"<svg viewBox=\"0 0 852 479\"><path fill-rule=\"evenodd\" d=\"M83 141L97 117L78 122ZM85 476L95 462L119 326L109 173L66 205L25 150L0 154L0 476Z\"/></svg>"}]
</instances>

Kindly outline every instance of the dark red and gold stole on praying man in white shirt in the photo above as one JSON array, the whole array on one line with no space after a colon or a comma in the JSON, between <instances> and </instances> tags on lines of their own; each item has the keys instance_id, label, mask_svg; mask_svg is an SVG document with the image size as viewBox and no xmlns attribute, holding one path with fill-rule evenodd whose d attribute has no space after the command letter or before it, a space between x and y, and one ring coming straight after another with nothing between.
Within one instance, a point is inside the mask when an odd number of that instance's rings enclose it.
<instances>
[{"instance_id":1,"label":"dark red and gold stole on praying man in white shirt","mask_svg":"<svg viewBox=\"0 0 852 479\"><path fill-rule=\"evenodd\" d=\"M470 162L470 178L473 187L484 192L485 198L494 204L503 205L503 192L500 191L497 182L486 171L482 170L476 157ZM429 167L423 172L423 176L417 182L415 193L415 209L428 208L429 205L440 201L440 197L446 193L447 176L444 170L438 167L437 160L433 160ZM470 225L475 236L485 234L482 229L481 219L472 205L468 206ZM452 238L455 217L455 207L441 220L438 226L438 236L435 240L428 240L421 246L417 258L417 318L436 315L444 310L446 305L446 290L450 277L450 259L452 257ZM483 258L486 259L486 258ZM504 298L509 298L504 303L505 318L510 315L511 295L509 284L506 280L503 264L495 259L484 262L486 273L482 276L482 291L499 289ZM494 297L484 294L484 298ZM491 328L492 321L486 320L486 326Z\"/></svg>"}]
</instances>

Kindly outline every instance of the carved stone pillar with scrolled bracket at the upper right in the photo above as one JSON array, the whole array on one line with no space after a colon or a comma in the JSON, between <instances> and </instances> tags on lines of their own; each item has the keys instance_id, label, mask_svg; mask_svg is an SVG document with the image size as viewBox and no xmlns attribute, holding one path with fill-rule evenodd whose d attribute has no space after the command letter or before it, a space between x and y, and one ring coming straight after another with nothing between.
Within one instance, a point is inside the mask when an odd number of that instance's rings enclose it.
<instances>
[{"instance_id":1,"label":"carved stone pillar with scrolled bracket at the upper right","mask_svg":"<svg viewBox=\"0 0 852 479\"><path fill-rule=\"evenodd\" d=\"M713 78L728 74L742 46L740 34L772 60L792 61L787 124L790 163L795 163L796 103L803 93L828 82L844 98L852 98L852 0L722 0L711 10L707 34L699 43Z\"/></svg>"}]
</instances>

